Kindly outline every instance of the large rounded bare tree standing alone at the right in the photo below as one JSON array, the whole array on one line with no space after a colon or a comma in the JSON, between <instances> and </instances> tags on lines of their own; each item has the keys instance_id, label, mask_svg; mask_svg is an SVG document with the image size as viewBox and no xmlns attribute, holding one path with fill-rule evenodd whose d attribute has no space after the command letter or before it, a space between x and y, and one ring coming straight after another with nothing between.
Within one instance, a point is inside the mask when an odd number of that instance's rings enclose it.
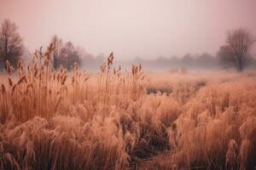
<instances>
[{"instance_id":1,"label":"large rounded bare tree standing alone at the right","mask_svg":"<svg viewBox=\"0 0 256 170\"><path fill-rule=\"evenodd\" d=\"M226 44L218 51L218 57L225 66L235 66L237 71L243 71L250 60L250 48L254 42L253 35L245 29L230 31Z\"/></svg>"}]
</instances>

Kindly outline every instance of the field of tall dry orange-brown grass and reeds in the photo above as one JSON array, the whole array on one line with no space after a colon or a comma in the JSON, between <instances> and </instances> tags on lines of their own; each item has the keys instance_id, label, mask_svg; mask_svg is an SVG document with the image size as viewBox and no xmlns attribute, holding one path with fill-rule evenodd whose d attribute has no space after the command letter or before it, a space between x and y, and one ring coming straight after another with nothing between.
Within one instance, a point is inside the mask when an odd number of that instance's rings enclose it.
<instances>
[{"instance_id":1,"label":"field of tall dry orange-brown grass and reeds","mask_svg":"<svg viewBox=\"0 0 256 170\"><path fill-rule=\"evenodd\" d=\"M53 71L1 75L0 169L255 169L256 73Z\"/></svg>"}]
</instances>

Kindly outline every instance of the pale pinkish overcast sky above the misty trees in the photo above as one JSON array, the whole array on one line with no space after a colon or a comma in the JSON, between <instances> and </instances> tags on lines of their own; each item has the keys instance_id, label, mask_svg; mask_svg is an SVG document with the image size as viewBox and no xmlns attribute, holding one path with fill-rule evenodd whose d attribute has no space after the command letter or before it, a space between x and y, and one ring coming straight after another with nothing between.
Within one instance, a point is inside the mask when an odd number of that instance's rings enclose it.
<instances>
[{"instance_id":1,"label":"pale pinkish overcast sky above the misty trees","mask_svg":"<svg viewBox=\"0 0 256 170\"><path fill-rule=\"evenodd\" d=\"M256 35L256 0L0 0L30 50L56 34L91 54L152 59L215 54L228 30Z\"/></svg>"}]
</instances>

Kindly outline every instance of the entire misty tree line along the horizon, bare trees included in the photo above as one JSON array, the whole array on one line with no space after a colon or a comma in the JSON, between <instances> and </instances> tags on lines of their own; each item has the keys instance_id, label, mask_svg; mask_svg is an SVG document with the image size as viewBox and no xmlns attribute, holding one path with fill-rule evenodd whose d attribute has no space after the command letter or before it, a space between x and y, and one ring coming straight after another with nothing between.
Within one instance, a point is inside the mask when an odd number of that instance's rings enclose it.
<instances>
[{"instance_id":1,"label":"entire misty tree line along the horizon, bare trees included","mask_svg":"<svg viewBox=\"0 0 256 170\"><path fill-rule=\"evenodd\" d=\"M247 29L239 28L234 31L229 31L226 36L226 42L218 50L217 59L218 64L223 65L225 68L236 68L237 71L243 71L250 62L252 62L252 55L250 49L255 42L255 38L252 33ZM52 54L52 62L55 69L61 65L67 70L71 69L73 63L81 65L83 61L94 63L102 59L93 59L93 56L87 56L87 59L82 59L82 54L79 53L79 48L73 45L73 42L63 42L60 37L52 37L50 43L54 47L54 53ZM0 27L0 68L4 68L6 61L8 60L12 65L16 65L20 56L24 53L24 45L18 27L11 20L3 20ZM99 56L99 58L101 58ZM143 61L146 65L152 64L150 60L135 59L135 61ZM171 63L176 65L177 63L183 66L204 66L211 67L216 65L216 59L210 54L202 54L199 58L194 59L190 54L183 56L182 59L172 58L159 58L156 59L160 65L168 65ZM93 62L92 62L93 63ZM195 64L196 63L196 64Z\"/></svg>"}]
</instances>

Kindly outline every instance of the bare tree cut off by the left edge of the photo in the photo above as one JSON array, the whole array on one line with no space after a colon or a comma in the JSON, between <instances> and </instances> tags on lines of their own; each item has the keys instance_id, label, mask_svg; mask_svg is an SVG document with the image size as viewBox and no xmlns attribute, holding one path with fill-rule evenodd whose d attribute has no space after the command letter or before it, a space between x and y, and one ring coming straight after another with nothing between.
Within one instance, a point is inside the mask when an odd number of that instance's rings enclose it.
<instances>
[{"instance_id":1,"label":"bare tree cut off by the left edge of the photo","mask_svg":"<svg viewBox=\"0 0 256 170\"><path fill-rule=\"evenodd\" d=\"M6 60L9 60L15 65L22 53L22 39L17 31L17 26L10 20L3 20L0 29L1 64L4 65Z\"/></svg>"}]
</instances>

